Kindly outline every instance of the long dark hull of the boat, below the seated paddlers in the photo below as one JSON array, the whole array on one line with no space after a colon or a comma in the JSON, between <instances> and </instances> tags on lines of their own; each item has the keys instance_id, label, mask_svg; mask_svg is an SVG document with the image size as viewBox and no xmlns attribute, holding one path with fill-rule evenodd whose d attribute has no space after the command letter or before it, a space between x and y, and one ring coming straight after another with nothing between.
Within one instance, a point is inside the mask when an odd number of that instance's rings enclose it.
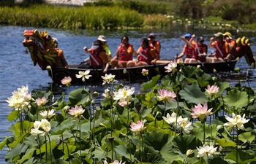
<instances>
[{"instance_id":1,"label":"long dark hull of the boat, below the seated paddlers","mask_svg":"<svg viewBox=\"0 0 256 164\"><path fill-rule=\"evenodd\" d=\"M225 62L216 62L216 63L184 63L185 66L201 66L203 71L206 73L214 73L214 69L217 72L221 71L233 71L236 66L236 60L225 61ZM64 77L71 77L72 83L83 83L81 78L77 78L75 75L79 74L79 71L86 71L90 70L91 77L86 79L86 83L101 83L102 76L105 74L114 74L115 79L117 80L126 80L131 82L145 82L151 77L160 74L161 76L165 76L167 74L165 66L167 66L169 60L160 60L159 64L151 65L151 66L139 66L139 67L132 67L126 68L127 73L124 72L124 69L108 69L108 72L103 73L102 69L86 69L83 68L83 65L72 65L69 68L52 68L53 74L51 71L48 71L49 76L52 77L53 82L61 83L61 79ZM143 76L141 71L143 69L148 69L148 77Z\"/></svg>"}]
</instances>

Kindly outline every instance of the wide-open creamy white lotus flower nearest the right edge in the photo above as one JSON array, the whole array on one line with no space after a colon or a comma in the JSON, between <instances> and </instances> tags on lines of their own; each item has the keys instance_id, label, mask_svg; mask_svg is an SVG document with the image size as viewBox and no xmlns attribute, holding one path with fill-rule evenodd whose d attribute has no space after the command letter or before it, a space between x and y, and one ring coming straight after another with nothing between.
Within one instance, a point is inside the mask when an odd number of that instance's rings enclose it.
<instances>
[{"instance_id":1,"label":"wide-open creamy white lotus flower nearest the right edge","mask_svg":"<svg viewBox=\"0 0 256 164\"><path fill-rule=\"evenodd\" d=\"M246 120L245 114L243 117L240 115L232 114L233 118L230 118L229 116L225 115L225 118L228 122L224 124L224 126L228 126L228 128L233 128L235 125L237 125L238 129L244 129L244 124L248 122L249 120Z\"/></svg>"}]
</instances>

